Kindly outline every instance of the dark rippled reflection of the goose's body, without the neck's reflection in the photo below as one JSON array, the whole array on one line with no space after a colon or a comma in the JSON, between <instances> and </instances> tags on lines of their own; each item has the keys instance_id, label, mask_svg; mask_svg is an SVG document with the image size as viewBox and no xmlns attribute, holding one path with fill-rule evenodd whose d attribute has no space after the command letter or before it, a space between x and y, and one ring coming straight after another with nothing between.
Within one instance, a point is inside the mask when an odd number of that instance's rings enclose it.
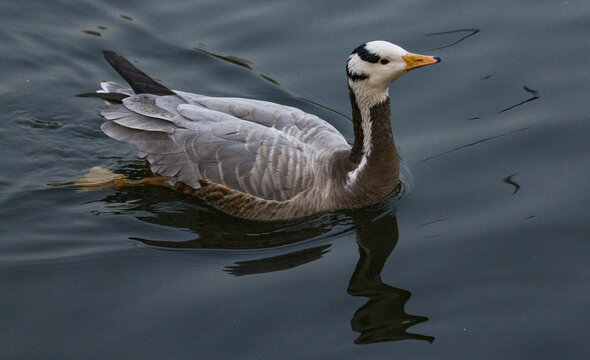
<instances>
[{"instance_id":1,"label":"dark rippled reflection of the goose's body, without the neck's reflection","mask_svg":"<svg viewBox=\"0 0 590 360\"><path fill-rule=\"evenodd\" d=\"M297 221L262 222L240 219L210 209L198 199L187 198L184 194L155 186L119 188L99 201L107 205L102 206L98 213L132 213L140 221L186 230L187 234L194 236L182 241L130 237L131 240L148 246L169 249L254 250L296 243L301 245L286 253L282 251L278 256L228 266L226 270L236 276L285 270L317 260L330 247L330 244L320 245L319 242L349 232L354 227L349 216L335 212Z\"/></svg>"}]
</instances>

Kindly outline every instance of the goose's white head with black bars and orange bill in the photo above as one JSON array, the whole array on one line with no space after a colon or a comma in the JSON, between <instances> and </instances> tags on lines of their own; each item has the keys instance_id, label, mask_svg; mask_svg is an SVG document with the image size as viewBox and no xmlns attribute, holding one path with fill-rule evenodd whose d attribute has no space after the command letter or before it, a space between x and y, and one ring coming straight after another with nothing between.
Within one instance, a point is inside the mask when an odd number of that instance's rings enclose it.
<instances>
[{"instance_id":1,"label":"goose's white head with black bars and orange bill","mask_svg":"<svg viewBox=\"0 0 590 360\"><path fill-rule=\"evenodd\" d=\"M438 57L413 54L387 41L370 41L354 49L348 58L348 85L357 101L374 105L387 98L389 85L397 78L439 61Z\"/></svg>"}]
</instances>

